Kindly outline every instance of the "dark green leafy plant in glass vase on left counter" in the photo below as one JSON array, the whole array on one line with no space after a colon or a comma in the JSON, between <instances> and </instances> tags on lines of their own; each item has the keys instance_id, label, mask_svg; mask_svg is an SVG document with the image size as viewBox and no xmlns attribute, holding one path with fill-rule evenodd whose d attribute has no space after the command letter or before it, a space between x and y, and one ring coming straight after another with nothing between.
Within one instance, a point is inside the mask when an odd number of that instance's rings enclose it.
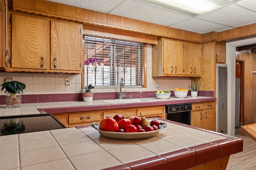
<instances>
[{"instance_id":1,"label":"dark green leafy plant in glass vase on left counter","mask_svg":"<svg viewBox=\"0 0 256 170\"><path fill-rule=\"evenodd\" d=\"M5 89L4 93L6 93L6 107L20 107L26 85L22 82L10 81L3 83L1 86L2 90Z\"/></svg>"}]
</instances>

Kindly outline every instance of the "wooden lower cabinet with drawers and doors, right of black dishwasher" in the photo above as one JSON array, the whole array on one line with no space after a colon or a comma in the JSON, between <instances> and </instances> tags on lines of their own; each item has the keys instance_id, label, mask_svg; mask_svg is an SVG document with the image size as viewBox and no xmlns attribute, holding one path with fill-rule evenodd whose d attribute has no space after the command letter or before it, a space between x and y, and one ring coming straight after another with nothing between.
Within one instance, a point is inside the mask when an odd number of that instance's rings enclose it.
<instances>
[{"instance_id":1,"label":"wooden lower cabinet with drawers and doors, right of black dishwasher","mask_svg":"<svg viewBox=\"0 0 256 170\"><path fill-rule=\"evenodd\" d=\"M192 104L191 125L216 131L216 102Z\"/></svg>"}]
</instances>

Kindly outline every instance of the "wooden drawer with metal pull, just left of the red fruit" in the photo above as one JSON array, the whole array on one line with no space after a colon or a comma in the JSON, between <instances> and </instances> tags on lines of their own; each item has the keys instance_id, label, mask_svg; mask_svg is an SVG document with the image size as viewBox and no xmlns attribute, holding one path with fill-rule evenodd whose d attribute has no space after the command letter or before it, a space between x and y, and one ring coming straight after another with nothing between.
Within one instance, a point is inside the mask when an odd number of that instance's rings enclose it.
<instances>
[{"instance_id":1,"label":"wooden drawer with metal pull, just left of the red fruit","mask_svg":"<svg viewBox=\"0 0 256 170\"><path fill-rule=\"evenodd\" d=\"M83 117L80 120L80 117ZM69 114L68 115L68 123L82 123L82 122L90 122L90 121L100 121L100 112L91 112L91 113L79 113L79 114Z\"/></svg>"}]
</instances>

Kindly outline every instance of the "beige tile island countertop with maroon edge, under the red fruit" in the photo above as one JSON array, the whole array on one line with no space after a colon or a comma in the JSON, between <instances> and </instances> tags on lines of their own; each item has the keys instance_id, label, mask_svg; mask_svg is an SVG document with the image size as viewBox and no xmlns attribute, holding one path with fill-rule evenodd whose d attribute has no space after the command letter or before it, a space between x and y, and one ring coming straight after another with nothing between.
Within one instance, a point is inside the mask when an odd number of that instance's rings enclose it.
<instances>
[{"instance_id":1,"label":"beige tile island countertop with maroon edge, under the red fruit","mask_svg":"<svg viewBox=\"0 0 256 170\"><path fill-rule=\"evenodd\" d=\"M90 125L0 136L0 169L187 169L243 150L240 138L158 120L167 127L148 139L109 139Z\"/></svg>"}]
</instances>

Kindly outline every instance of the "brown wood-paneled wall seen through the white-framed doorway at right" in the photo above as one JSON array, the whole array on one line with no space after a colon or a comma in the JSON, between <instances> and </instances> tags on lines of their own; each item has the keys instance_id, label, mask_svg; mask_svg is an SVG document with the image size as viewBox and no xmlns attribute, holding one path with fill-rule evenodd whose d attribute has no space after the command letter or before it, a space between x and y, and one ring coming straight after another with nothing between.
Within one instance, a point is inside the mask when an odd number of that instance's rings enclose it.
<instances>
[{"instance_id":1,"label":"brown wood-paneled wall seen through the white-framed doorway at right","mask_svg":"<svg viewBox=\"0 0 256 170\"><path fill-rule=\"evenodd\" d=\"M236 59L244 61L244 124L256 123L256 54L236 52Z\"/></svg>"}]
</instances>

